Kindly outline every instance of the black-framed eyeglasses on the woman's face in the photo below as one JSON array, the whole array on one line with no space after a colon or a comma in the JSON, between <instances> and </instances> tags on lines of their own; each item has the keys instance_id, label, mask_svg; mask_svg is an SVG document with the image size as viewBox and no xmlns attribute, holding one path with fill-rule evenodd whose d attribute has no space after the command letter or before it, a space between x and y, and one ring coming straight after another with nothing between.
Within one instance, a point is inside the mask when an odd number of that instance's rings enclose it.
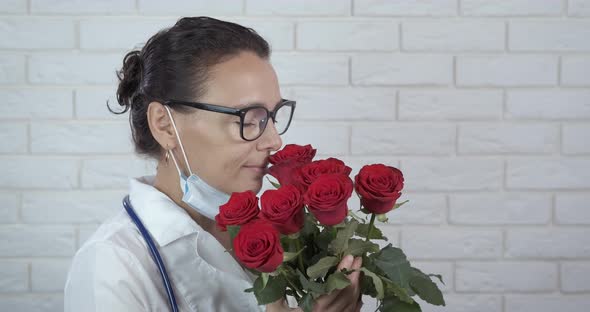
<instances>
[{"instance_id":1,"label":"black-framed eyeglasses on the woman's face","mask_svg":"<svg viewBox=\"0 0 590 312\"><path fill-rule=\"evenodd\" d=\"M221 105L198 103L198 102L187 102L187 101L176 101L167 100L164 101L165 105L185 105L198 109L203 109L210 112L234 115L240 117L240 136L246 141L254 141L258 139L266 125L268 120L272 118L275 123L275 127L279 135L287 132L291 119L293 119L293 112L295 111L295 101L281 99L281 102L275 107L273 111L269 111L261 104L255 104L242 109L236 109L233 107L226 107Z\"/></svg>"}]
</instances>

